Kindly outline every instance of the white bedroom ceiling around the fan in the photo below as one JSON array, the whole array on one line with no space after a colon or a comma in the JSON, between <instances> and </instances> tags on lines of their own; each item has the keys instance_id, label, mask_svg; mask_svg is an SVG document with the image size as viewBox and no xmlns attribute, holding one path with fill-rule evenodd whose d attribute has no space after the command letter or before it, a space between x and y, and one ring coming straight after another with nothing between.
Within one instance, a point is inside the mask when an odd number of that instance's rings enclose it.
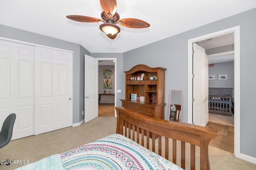
<instances>
[{"instance_id":1,"label":"white bedroom ceiling around the fan","mask_svg":"<svg viewBox=\"0 0 256 170\"><path fill-rule=\"evenodd\" d=\"M0 24L78 43L90 53L124 53L256 8L256 0L116 0L120 19L137 18L150 23L150 27L133 29L120 25L120 33L112 40L100 31L100 23L66 18L100 18L103 10L99 0L2 1Z\"/></svg>"}]
</instances>

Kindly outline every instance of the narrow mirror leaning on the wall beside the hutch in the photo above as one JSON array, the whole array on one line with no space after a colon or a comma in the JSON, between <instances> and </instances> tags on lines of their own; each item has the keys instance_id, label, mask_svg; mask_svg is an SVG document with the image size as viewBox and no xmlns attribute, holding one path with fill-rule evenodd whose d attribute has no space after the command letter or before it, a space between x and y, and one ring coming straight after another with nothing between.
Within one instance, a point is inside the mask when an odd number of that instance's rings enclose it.
<instances>
[{"instance_id":1,"label":"narrow mirror leaning on the wall beside the hutch","mask_svg":"<svg viewBox=\"0 0 256 170\"><path fill-rule=\"evenodd\" d=\"M183 90L170 90L169 120L182 121Z\"/></svg>"}]
</instances>

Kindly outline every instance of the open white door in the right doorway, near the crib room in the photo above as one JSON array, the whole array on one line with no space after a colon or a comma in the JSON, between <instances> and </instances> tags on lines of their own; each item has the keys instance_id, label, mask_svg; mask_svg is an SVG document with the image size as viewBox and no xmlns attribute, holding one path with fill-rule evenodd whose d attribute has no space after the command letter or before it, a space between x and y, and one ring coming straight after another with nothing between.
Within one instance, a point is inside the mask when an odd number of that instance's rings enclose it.
<instances>
[{"instance_id":1,"label":"open white door in the right doorway, near the crib room","mask_svg":"<svg viewBox=\"0 0 256 170\"><path fill-rule=\"evenodd\" d=\"M206 126L208 123L208 92L206 92L208 91L208 83L206 83L208 59L205 49L196 43L193 43L193 50L193 122L195 125Z\"/></svg>"}]
</instances>

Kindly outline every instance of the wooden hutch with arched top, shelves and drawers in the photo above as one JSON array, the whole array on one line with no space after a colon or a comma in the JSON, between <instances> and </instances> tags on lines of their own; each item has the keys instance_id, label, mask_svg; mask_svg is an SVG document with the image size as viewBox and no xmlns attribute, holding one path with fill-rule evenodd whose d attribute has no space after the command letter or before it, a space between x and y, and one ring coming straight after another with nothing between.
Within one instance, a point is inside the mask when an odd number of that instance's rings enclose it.
<instances>
[{"instance_id":1,"label":"wooden hutch with arched top, shelves and drawers","mask_svg":"<svg viewBox=\"0 0 256 170\"><path fill-rule=\"evenodd\" d=\"M132 109L138 113L164 119L164 77L166 68L151 68L144 64L132 67L125 71L125 99L122 99L122 106ZM143 80L131 80L132 77L141 76ZM150 77L156 76L156 80ZM131 100L131 94L138 97L144 96L145 101ZM156 102L152 102L152 94L156 94Z\"/></svg>"}]
</instances>

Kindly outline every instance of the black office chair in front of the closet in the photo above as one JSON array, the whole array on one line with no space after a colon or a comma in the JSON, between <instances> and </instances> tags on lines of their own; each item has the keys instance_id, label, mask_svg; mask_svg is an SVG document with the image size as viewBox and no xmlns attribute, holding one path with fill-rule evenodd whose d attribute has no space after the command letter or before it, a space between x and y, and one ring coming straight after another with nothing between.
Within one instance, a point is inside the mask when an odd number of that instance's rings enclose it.
<instances>
[{"instance_id":1,"label":"black office chair in front of the closet","mask_svg":"<svg viewBox=\"0 0 256 170\"><path fill-rule=\"evenodd\" d=\"M15 119L16 119L16 114L12 113L8 115L4 120L2 129L0 132L0 148L6 146L12 139L12 130L13 130Z\"/></svg>"}]
</instances>

